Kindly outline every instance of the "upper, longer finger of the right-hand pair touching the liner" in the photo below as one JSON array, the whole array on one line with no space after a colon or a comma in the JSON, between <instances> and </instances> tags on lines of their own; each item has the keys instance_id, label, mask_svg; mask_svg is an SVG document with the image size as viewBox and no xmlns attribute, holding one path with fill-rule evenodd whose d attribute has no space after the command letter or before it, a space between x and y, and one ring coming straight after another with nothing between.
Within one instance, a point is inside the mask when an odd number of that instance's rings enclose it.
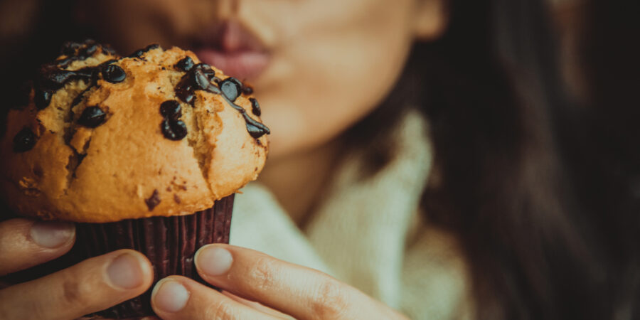
<instances>
[{"instance_id":1,"label":"upper, longer finger of the right-hand pair touching the liner","mask_svg":"<svg viewBox=\"0 0 640 320\"><path fill-rule=\"evenodd\" d=\"M400 314L328 275L231 245L196 252L201 277L216 287L297 319L393 319Z\"/></svg>"}]
</instances>

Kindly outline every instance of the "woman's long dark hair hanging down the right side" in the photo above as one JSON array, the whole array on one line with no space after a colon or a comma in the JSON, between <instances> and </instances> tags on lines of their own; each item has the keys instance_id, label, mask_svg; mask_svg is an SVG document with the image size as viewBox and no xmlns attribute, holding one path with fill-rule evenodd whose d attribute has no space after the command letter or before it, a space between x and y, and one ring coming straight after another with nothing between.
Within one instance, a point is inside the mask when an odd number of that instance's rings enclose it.
<instances>
[{"instance_id":1,"label":"woman's long dark hair hanging down the right side","mask_svg":"<svg viewBox=\"0 0 640 320\"><path fill-rule=\"evenodd\" d=\"M565 93L545 2L449 1L448 30L420 49L440 176L424 211L461 240L479 319L631 319L640 55L621 45L638 19L587 2L590 96L579 104Z\"/></svg>"}]
</instances>

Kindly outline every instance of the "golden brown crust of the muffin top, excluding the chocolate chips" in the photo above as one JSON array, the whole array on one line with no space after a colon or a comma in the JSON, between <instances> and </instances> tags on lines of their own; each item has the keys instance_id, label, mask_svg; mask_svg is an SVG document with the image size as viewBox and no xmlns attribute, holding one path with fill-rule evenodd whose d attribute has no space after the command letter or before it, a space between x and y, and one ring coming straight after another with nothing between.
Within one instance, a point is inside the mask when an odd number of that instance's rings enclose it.
<instances>
[{"instance_id":1,"label":"golden brown crust of the muffin top, excluding the chocolate chips","mask_svg":"<svg viewBox=\"0 0 640 320\"><path fill-rule=\"evenodd\" d=\"M9 112L0 146L0 186L9 206L21 215L92 223L185 215L210 208L257 178L267 137L251 137L240 112L220 95L198 90L193 107L180 103L188 132L184 139L166 139L161 132L159 107L178 100L174 87L185 73L174 65L186 55L199 63L179 48L122 58L113 64L125 71L125 80L98 79L72 110L71 102L89 83L68 82L43 110L34 105L32 91L28 107ZM100 50L67 70L113 58L119 57ZM242 95L235 104L259 120L248 98ZM82 111L95 105L107 113L106 122L95 128L79 125ZM38 141L16 152L14 137L25 127Z\"/></svg>"}]
</instances>

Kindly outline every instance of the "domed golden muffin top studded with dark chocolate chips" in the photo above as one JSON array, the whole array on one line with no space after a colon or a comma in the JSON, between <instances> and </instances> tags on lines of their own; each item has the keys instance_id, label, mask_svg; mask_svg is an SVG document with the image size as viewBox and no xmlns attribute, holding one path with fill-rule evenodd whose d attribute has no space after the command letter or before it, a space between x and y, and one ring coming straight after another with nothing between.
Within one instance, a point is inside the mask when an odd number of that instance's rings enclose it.
<instances>
[{"instance_id":1,"label":"domed golden muffin top studded with dark chocolate chips","mask_svg":"<svg viewBox=\"0 0 640 320\"><path fill-rule=\"evenodd\" d=\"M269 129L250 87L191 51L65 43L10 110L1 192L16 213L103 223L186 215L255 180Z\"/></svg>"}]
</instances>

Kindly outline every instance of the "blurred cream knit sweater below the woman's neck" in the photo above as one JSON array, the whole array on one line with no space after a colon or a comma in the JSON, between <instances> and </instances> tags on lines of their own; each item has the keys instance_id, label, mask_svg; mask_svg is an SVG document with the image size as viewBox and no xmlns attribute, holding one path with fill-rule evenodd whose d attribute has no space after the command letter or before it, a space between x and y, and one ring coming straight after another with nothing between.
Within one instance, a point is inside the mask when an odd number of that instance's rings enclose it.
<instances>
[{"instance_id":1,"label":"blurred cream knit sweater below the woman's neck","mask_svg":"<svg viewBox=\"0 0 640 320\"><path fill-rule=\"evenodd\" d=\"M301 230L258 183L236 196L232 245L312 267L412 319L470 319L470 279L457 242L417 208L432 165L427 122L409 112L390 139L395 158L361 178L363 154L343 161Z\"/></svg>"}]
</instances>

